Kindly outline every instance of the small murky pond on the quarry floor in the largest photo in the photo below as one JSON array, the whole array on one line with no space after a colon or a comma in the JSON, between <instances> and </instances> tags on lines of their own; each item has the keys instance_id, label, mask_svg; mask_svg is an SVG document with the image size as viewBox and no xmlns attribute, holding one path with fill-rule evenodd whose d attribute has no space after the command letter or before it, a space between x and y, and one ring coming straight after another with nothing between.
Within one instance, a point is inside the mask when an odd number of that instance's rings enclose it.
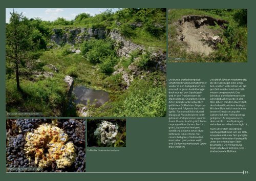
<instances>
[{"instance_id":1,"label":"small murky pond on the quarry floor in the largest photo","mask_svg":"<svg viewBox=\"0 0 256 181\"><path fill-rule=\"evenodd\" d=\"M74 101L75 104L82 103L87 105L88 101L90 101L90 104L95 103L95 107L100 107L109 100L109 93L104 90L95 90L84 86L75 86L73 93L77 98Z\"/></svg>"}]
</instances>

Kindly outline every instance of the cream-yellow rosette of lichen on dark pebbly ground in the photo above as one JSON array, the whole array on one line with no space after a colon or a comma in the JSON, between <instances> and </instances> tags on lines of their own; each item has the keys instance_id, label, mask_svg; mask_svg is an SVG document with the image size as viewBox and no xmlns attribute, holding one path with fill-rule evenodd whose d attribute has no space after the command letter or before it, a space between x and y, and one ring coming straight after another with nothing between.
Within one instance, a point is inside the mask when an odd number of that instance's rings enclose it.
<instances>
[{"instance_id":1,"label":"cream-yellow rosette of lichen on dark pebbly ground","mask_svg":"<svg viewBox=\"0 0 256 181\"><path fill-rule=\"evenodd\" d=\"M25 152L28 157L34 154L35 164L46 168L53 162L58 168L65 168L75 161L76 150L68 135L52 124L42 124L26 136ZM66 143L67 142L67 143Z\"/></svg>"}]
</instances>

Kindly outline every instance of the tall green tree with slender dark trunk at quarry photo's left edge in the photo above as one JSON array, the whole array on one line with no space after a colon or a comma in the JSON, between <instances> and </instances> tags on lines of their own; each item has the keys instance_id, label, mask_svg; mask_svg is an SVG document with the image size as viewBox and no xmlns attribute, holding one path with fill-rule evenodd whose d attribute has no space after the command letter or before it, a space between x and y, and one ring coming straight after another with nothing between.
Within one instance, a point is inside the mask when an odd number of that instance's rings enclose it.
<instances>
[{"instance_id":1,"label":"tall green tree with slender dark trunk at quarry photo's left edge","mask_svg":"<svg viewBox=\"0 0 256 181\"><path fill-rule=\"evenodd\" d=\"M10 23L6 25L6 58L14 64L16 72L17 89L19 85L19 67L30 59L31 51L37 47L33 42L33 30L24 23L22 13L10 12Z\"/></svg>"}]
</instances>

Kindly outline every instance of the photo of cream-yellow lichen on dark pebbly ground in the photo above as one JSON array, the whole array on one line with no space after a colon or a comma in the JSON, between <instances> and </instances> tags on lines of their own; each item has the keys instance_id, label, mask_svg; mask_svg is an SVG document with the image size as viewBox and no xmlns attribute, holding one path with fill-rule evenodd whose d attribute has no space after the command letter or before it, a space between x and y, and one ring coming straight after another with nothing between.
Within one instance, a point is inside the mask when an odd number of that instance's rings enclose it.
<instances>
[{"instance_id":1,"label":"photo of cream-yellow lichen on dark pebbly ground","mask_svg":"<svg viewBox=\"0 0 256 181\"><path fill-rule=\"evenodd\" d=\"M7 119L7 172L86 171L86 121Z\"/></svg>"}]
</instances>

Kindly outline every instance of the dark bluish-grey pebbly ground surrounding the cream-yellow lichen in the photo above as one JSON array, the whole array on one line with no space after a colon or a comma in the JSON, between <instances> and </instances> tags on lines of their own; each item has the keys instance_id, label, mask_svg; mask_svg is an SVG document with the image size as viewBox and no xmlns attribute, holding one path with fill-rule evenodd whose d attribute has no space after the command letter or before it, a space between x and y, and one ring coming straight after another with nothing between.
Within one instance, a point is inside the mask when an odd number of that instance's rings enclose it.
<instances>
[{"instance_id":1,"label":"dark bluish-grey pebbly ground surrounding the cream-yellow lichen","mask_svg":"<svg viewBox=\"0 0 256 181\"><path fill-rule=\"evenodd\" d=\"M54 120L54 119L53 119ZM37 168L34 158L26 157L24 145L27 132L33 132L43 123L52 123L52 119L8 119L6 122L6 167L8 172L43 171L43 172L84 172L86 171L86 121L76 119L57 119L57 127L69 135L76 149L76 160L68 168L57 169L53 163L43 170Z\"/></svg>"}]
</instances>

